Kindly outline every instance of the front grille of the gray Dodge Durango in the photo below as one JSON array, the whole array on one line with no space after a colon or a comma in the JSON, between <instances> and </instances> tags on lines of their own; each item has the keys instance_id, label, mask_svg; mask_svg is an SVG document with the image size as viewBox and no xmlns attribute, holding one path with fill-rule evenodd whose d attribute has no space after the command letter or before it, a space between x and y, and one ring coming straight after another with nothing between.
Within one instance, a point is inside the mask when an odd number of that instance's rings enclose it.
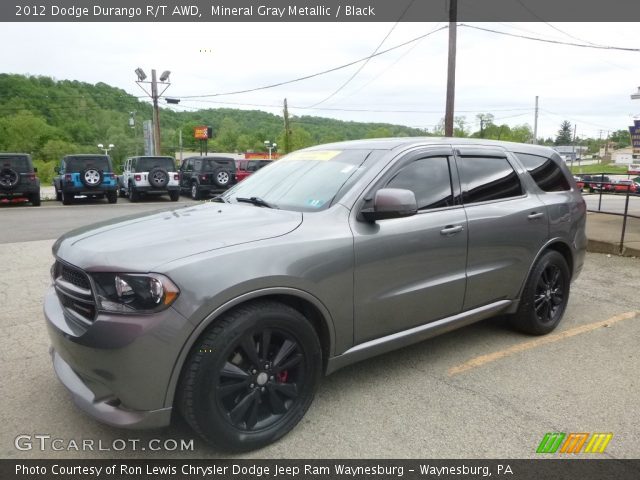
<instances>
[{"instance_id":1,"label":"front grille of the gray Dodge Durango","mask_svg":"<svg viewBox=\"0 0 640 480\"><path fill-rule=\"evenodd\" d=\"M56 294L67 318L75 323L91 324L96 316L96 302L87 274L76 267L56 262L53 277Z\"/></svg>"}]
</instances>

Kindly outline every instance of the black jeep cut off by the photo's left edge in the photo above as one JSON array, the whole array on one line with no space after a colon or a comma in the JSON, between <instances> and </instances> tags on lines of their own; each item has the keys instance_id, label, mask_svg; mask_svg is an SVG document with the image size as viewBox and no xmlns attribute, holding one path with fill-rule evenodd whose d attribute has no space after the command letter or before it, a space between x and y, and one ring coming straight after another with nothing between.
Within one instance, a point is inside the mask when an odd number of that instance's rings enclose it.
<instances>
[{"instance_id":1,"label":"black jeep cut off by the photo's left edge","mask_svg":"<svg viewBox=\"0 0 640 480\"><path fill-rule=\"evenodd\" d=\"M40 206L40 180L37 168L26 153L0 153L0 201L26 198Z\"/></svg>"}]
</instances>

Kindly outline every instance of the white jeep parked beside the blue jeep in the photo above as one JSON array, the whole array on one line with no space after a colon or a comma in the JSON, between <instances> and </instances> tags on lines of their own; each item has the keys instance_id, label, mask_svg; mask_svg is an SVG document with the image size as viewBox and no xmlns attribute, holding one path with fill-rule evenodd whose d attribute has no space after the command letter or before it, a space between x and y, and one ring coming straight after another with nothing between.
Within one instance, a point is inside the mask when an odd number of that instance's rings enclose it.
<instances>
[{"instance_id":1,"label":"white jeep parked beside the blue jeep","mask_svg":"<svg viewBox=\"0 0 640 480\"><path fill-rule=\"evenodd\" d=\"M120 196L137 202L140 194L168 193L171 201L176 202L180 197L179 178L173 157L131 157L119 178Z\"/></svg>"}]
</instances>

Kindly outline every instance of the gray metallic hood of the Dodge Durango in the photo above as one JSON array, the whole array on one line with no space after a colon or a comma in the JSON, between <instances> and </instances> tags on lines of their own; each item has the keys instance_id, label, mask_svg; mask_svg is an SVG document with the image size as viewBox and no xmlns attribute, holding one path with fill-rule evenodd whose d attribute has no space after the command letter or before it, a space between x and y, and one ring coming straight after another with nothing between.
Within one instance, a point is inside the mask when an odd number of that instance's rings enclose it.
<instances>
[{"instance_id":1,"label":"gray metallic hood of the Dodge Durango","mask_svg":"<svg viewBox=\"0 0 640 480\"><path fill-rule=\"evenodd\" d=\"M208 202L73 230L55 242L53 254L87 271L149 272L190 255L286 235L300 223L300 212Z\"/></svg>"}]
</instances>

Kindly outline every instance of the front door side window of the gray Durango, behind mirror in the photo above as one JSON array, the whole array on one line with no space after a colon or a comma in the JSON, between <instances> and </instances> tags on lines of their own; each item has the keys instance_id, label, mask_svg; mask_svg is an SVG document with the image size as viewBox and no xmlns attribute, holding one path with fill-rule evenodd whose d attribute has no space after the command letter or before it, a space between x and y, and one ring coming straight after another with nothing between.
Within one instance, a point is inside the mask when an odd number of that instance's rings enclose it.
<instances>
[{"instance_id":1,"label":"front door side window of the gray Durango, behind mirror","mask_svg":"<svg viewBox=\"0 0 640 480\"><path fill-rule=\"evenodd\" d=\"M386 186L413 191L418 210L453 205L447 157L428 157L411 162L401 168Z\"/></svg>"}]
</instances>

